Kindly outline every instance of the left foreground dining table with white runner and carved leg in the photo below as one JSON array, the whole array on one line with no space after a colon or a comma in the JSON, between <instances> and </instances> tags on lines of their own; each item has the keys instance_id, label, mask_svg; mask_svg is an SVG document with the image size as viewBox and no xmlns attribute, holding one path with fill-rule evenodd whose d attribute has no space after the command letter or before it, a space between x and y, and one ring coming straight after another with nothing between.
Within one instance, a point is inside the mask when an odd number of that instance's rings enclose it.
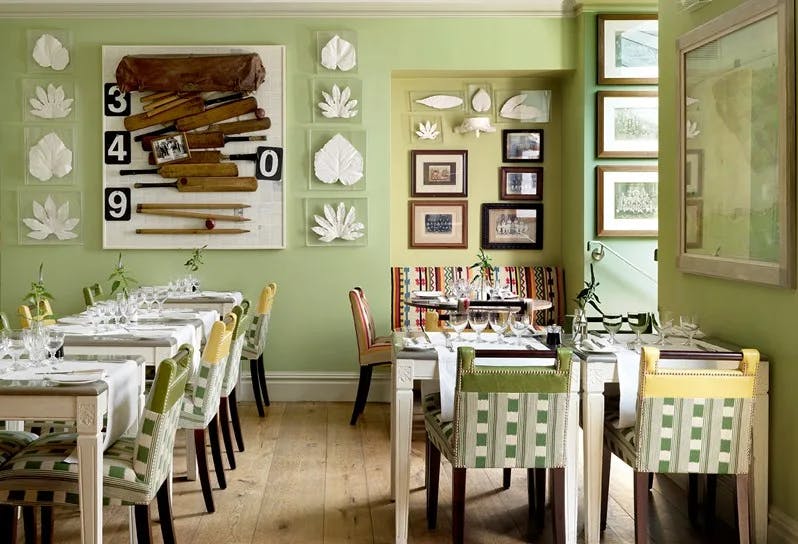
<instances>
[{"instance_id":1,"label":"left foreground dining table with white runner and carved leg","mask_svg":"<svg viewBox=\"0 0 798 544\"><path fill-rule=\"evenodd\" d=\"M67 357L55 367L10 370L0 360L0 419L9 429L24 420L74 420L81 541L101 544L103 451L135 429L144 404L144 360L132 356Z\"/></svg>"}]
</instances>

